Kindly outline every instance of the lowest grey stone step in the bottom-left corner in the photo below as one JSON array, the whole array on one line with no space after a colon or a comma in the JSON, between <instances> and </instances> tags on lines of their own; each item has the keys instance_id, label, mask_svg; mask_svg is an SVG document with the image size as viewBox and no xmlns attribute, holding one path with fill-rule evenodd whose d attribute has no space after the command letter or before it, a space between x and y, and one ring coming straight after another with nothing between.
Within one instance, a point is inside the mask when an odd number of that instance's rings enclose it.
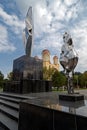
<instances>
[{"instance_id":1,"label":"lowest grey stone step in the bottom-left corner","mask_svg":"<svg viewBox=\"0 0 87 130\"><path fill-rule=\"evenodd\" d=\"M2 112L0 112L0 124L2 124L3 127L5 127L5 129L1 127L0 130L18 130L18 123Z\"/></svg>"}]
</instances>

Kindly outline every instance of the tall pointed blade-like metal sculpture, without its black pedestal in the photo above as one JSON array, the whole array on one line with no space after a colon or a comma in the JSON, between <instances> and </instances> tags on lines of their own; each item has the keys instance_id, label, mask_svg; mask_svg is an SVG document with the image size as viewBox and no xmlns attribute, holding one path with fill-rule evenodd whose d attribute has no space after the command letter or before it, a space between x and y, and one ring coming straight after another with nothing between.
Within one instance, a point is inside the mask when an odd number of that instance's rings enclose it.
<instances>
[{"instance_id":1,"label":"tall pointed blade-like metal sculpture, without its black pedestal","mask_svg":"<svg viewBox=\"0 0 87 130\"><path fill-rule=\"evenodd\" d=\"M25 45L25 53L27 56L31 56L32 39L33 39L33 18L32 7L29 7L25 18L25 29L23 30L23 41Z\"/></svg>"}]
</instances>

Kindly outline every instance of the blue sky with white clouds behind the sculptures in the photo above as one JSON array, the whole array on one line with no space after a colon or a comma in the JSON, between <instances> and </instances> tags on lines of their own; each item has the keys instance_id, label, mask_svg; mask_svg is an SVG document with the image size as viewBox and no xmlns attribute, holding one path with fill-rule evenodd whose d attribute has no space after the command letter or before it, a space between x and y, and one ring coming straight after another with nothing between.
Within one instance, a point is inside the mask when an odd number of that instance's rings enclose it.
<instances>
[{"instance_id":1,"label":"blue sky with white clouds behind the sculptures","mask_svg":"<svg viewBox=\"0 0 87 130\"><path fill-rule=\"evenodd\" d=\"M22 31L33 7L32 56L48 49L51 60L61 52L64 32L70 33L79 55L75 71L87 71L87 0L0 0L0 71L6 77L13 60L25 54ZM60 67L62 69L62 67Z\"/></svg>"}]
</instances>

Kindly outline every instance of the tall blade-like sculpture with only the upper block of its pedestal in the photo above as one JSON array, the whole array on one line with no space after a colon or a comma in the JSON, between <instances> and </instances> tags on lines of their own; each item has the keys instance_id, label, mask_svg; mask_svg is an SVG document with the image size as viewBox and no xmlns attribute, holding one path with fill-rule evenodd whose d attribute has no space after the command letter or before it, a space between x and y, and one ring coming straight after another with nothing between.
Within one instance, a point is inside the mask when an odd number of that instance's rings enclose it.
<instances>
[{"instance_id":1,"label":"tall blade-like sculpture with only the upper block of its pedestal","mask_svg":"<svg viewBox=\"0 0 87 130\"><path fill-rule=\"evenodd\" d=\"M13 72L14 79L42 79L42 59L31 56L33 44L33 15L30 6L25 18L25 28L23 30L23 41L25 46L25 55L14 60Z\"/></svg>"}]
</instances>

